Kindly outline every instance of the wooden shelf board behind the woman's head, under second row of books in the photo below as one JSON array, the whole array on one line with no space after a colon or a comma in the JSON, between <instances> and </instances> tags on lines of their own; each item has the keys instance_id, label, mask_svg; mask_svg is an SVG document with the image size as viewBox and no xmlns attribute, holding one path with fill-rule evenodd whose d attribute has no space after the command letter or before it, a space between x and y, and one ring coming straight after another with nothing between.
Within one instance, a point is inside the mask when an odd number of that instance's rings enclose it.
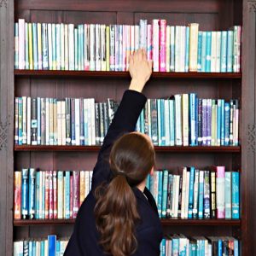
<instances>
[{"instance_id":1,"label":"wooden shelf board behind the woman's head, under second row of books","mask_svg":"<svg viewBox=\"0 0 256 256\"><path fill-rule=\"evenodd\" d=\"M15 151L85 151L85 152L97 152L100 150L100 146L52 146L52 145L15 145ZM172 152L172 153L240 153L240 146L173 146L173 147L160 147L155 146L156 152Z\"/></svg>"}]
</instances>

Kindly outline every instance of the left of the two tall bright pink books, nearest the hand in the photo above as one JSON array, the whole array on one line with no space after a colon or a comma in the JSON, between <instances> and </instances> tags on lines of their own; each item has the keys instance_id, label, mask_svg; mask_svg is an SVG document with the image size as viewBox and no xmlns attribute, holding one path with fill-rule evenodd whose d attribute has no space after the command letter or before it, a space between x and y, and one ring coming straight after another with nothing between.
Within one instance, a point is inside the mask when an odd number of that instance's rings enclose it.
<instances>
[{"instance_id":1,"label":"left of the two tall bright pink books, nearest the hand","mask_svg":"<svg viewBox=\"0 0 256 256\"><path fill-rule=\"evenodd\" d=\"M159 20L152 21L152 60L154 72L159 72Z\"/></svg>"}]
</instances>

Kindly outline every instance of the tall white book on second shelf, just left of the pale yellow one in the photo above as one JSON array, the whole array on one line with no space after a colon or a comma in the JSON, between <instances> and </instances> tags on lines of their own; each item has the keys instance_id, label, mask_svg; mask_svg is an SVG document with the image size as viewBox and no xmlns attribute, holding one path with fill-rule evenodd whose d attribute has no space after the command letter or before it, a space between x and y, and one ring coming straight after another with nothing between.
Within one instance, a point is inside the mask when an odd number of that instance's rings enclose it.
<instances>
[{"instance_id":1,"label":"tall white book on second shelf, just left of the pale yellow one","mask_svg":"<svg viewBox=\"0 0 256 256\"><path fill-rule=\"evenodd\" d=\"M182 106L181 106L181 95L177 94L175 98L175 144L177 146L183 145L182 138Z\"/></svg>"}]
</instances>

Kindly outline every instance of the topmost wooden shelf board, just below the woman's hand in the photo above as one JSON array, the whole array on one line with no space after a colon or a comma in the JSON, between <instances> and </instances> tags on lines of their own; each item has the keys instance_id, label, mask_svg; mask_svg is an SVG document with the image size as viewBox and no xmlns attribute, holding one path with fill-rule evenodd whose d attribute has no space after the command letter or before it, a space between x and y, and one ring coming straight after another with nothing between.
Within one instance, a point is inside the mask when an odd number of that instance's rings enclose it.
<instances>
[{"instance_id":1,"label":"topmost wooden shelf board, just below the woman's hand","mask_svg":"<svg viewBox=\"0 0 256 256\"><path fill-rule=\"evenodd\" d=\"M88 77L88 78L130 78L128 72L113 71L66 71L66 70L23 70L16 69L15 76L29 77ZM176 72L153 72L153 78L161 79L241 79L241 73L176 73Z\"/></svg>"}]
</instances>

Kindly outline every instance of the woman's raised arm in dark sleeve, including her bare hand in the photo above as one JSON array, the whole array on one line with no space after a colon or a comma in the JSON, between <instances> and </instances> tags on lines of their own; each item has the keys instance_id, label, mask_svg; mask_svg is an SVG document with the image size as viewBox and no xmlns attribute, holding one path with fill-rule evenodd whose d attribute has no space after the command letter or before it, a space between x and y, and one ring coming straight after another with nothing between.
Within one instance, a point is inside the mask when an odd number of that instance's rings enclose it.
<instances>
[{"instance_id":1,"label":"woman's raised arm in dark sleeve, including her bare hand","mask_svg":"<svg viewBox=\"0 0 256 256\"><path fill-rule=\"evenodd\" d=\"M142 91L152 73L152 62L147 61L145 50L139 49L136 53L130 56L129 72L131 74L131 84L129 90L125 90L119 108L115 113L112 124L109 126L108 133L104 138L93 171L93 183L102 182L103 180L108 179L108 158L113 143L125 132L135 130L137 119L147 100L147 98L143 96ZM97 172L102 169L104 169L104 173L101 173L101 176L96 175ZM93 184L92 187L94 187Z\"/></svg>"}]
</instances>

